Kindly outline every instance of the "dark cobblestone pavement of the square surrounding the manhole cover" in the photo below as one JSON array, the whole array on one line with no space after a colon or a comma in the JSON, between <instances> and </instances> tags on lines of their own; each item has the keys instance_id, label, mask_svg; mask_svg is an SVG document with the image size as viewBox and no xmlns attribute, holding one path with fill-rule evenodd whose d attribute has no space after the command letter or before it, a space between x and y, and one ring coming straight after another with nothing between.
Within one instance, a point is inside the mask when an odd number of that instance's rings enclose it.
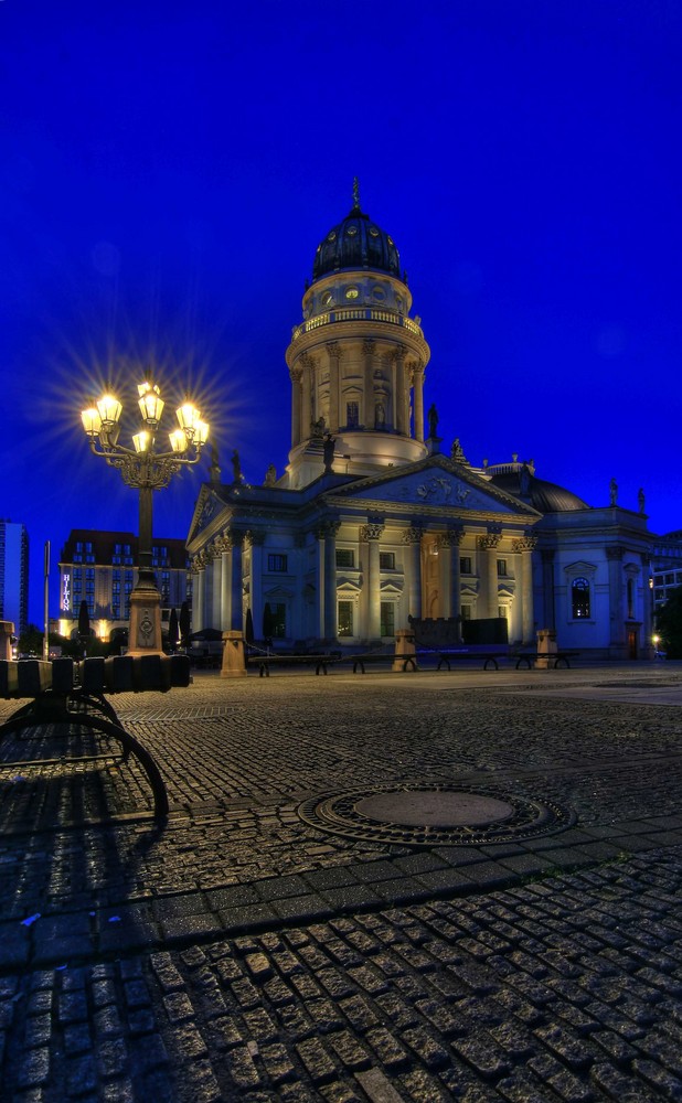
<instances>
[{"instance_id":1,"label":"dark cobblestone pavement of the square surrounding the manhole cover","mask_svg":"<svg viewBox=\"0 0 682 1103\"><path fill-rule=\"evenodd\" d=\"M0 745L2 1101L682 1099L682 667L115 705L164 825L115 747ZM435 845L308 814L452 785L568 817Z\"/></svg>"}]
</instances>

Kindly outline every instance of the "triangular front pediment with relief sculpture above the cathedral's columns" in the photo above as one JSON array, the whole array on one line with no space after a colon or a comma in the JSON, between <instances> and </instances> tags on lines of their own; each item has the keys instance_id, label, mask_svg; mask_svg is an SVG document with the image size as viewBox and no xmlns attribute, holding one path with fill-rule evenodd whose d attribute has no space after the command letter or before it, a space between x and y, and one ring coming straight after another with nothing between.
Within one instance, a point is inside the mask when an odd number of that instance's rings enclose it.
<instances>
[{"instance_id":1,"label":"triangular front pediment with relief sculpture above the cathedral's columns","mask_svg":"<svg viewBox=\"0 0 682 1103\"><path fill-rule=\"evenodd\" d=\"M340 486L326 496L345 503L349 500L386 502L411 508L452 510L458 514L471 511L502 516L540 516L526 503L493 486L463 464L452 463L441 456L387 469L385 473Z\"/></svg>"}]
</instances>

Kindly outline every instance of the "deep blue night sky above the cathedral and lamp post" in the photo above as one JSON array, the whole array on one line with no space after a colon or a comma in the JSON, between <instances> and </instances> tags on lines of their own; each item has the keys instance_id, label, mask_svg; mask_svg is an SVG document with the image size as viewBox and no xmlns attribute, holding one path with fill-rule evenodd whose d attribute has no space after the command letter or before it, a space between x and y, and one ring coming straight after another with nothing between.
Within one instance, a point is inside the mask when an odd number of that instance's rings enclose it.
<instances>
[{"instance_id":1,"label":"deep blue night sky above the cathedral and lamp post","mask_svg":"<svg viewBox=\"0 0 682 1103\"><path fill-rule=\"evenodd\" d=\"M137 527L79 428L97 381L131 406L159 365L224 472L233 448L281 472L284 353L355 175L444 447L596 506L643 486L650 528L682 528L682 6L243 7L0 0L0 516L29 527L31 618L45 539L56 564L71 528ZM156 496L157 535L187 535L202 478Z\"/></svg>"}]
</instances>

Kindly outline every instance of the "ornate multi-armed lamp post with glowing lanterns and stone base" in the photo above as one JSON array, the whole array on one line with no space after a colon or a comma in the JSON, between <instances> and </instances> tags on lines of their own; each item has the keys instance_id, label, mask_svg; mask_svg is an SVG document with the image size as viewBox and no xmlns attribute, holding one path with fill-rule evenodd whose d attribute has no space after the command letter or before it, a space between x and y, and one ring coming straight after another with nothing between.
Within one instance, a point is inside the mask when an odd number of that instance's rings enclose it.
<instances>
[{"instance_id":1,"label":"ornate multi-armed lamp post with glowing lanterns and stone base","mask_svg":"<svg viewBox=\"0 0 682 1103\"><path fill-rule=\"evenodd\" d=\"M150 655L162 653L161 595L151 565L152 494L168 486L182 467L198 462L209 426L188 398L175 410L179 428L169 432L170 450L157 451L156 435L164 406L161 392L150 381L137 389L142 424L132 436L132 448L118 442L122 406L110 392L82 410L81 419L90 451L118 468L126 485L139 491L138 580L130 593L128 653Z\"/></svg>"}]
</instances>

